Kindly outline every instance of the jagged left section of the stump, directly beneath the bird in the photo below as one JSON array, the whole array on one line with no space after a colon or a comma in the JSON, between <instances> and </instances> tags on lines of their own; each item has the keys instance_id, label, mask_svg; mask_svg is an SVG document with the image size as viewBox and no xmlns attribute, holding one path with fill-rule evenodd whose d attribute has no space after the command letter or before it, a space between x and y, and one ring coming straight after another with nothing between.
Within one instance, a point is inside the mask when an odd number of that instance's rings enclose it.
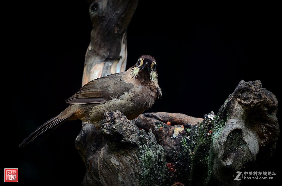
<instances>
[{"instance_id":1,"label":"jagged left section of the stump, directly beneath the bird","mask_svg":"<svg viewBox=\"0 0 282 186\"><path fill-rule=\"evenodd\" d=\"M152 131L139 130L119 111L104 117L99 133L87 123L76 138L87 170L83 185L163 185L164 149Z\"/></svg>"}]
</instances>

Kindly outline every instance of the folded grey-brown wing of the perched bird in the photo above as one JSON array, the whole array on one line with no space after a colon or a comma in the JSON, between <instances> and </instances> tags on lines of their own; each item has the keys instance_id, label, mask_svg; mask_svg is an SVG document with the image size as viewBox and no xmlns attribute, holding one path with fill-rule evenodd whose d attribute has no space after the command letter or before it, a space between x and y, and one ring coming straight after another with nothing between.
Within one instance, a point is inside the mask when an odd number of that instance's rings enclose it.
<instances>
[{"instance_id":1,"label":"folded grey-brown wing of the perched bird","mask_svg":"<svg viewBox=\"0 0 282 186\"><path fill-rule=\"evenodd\" d=\"M90 81L65 102L70 104L104 103L114 98L120 98L122 94L133 88L132 83L122 79L122 74L111 74Z\"/></svg>"}]
</instances>

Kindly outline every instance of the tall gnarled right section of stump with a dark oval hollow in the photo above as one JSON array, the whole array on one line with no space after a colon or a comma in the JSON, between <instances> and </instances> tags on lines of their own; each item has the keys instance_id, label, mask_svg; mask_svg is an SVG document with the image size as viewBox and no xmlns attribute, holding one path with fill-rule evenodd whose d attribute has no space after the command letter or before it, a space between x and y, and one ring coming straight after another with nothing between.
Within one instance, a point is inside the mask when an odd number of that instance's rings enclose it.
<instances>
[{"instance_id":1,"label":"tall gnarled right section of stump with a dark oval hollow","mask_svg":"<svg viewBox=\"0 0 282 186\"><path fill-rule=\"evenodd\" d=\"M235 171L266 161L276 148L277 99L261 81L241 81L215 116L199 126L191 185L238 185ZM211 132L209 132L211 131Z\"/></svg>"}]
</instances>

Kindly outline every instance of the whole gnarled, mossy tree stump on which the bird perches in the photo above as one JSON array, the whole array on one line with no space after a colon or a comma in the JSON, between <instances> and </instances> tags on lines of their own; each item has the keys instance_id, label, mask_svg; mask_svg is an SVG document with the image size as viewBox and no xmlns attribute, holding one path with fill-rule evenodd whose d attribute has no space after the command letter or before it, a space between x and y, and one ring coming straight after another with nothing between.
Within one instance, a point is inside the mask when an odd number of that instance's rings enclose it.
<instances>
[{"instance_id":1,"label":"whole gnarled, mossy tree stump on which the bird perches","mask_svg":"<svg viewBox=\"0 0 282 186\"><path fill-rule=\"evenodd\" d=\"M234 171L274 153L276 113L276 97L259 80L241 81L203 120L158 112L129 121L105 112L99 132L87 123L76 138L83 185L239 185Z\"/></svg>"}]
</instances>

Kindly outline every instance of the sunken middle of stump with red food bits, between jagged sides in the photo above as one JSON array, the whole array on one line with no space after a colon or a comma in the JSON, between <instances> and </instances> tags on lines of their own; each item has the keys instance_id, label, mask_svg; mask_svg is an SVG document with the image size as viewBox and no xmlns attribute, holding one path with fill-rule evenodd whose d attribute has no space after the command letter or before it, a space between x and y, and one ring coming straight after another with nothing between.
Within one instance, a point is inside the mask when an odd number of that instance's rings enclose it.
<instances>
[{"instance_id":1,"label":"sunken middle of stump with red food bits, between jagged sides","mask_svg":"<svg viewBox=\"0 0 282 186\"><path fill-rule=\"evenodd\" d=\"M167 168L166 185L190 184L191 153L198 125L202 118L185 114L157 112L145 113L133 123L145 131L152 130L158 143L164 148Z\"/></svg>"}]
</instances>

